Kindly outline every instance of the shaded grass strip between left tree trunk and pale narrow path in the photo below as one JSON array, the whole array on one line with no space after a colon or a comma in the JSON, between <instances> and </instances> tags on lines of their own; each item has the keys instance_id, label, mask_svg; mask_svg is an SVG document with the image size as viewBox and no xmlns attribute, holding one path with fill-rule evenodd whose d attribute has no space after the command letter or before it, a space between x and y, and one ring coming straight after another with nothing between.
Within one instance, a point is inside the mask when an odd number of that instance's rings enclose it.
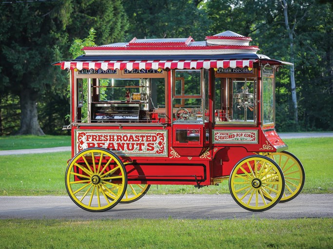
<instances>
[{"instance_id":1,"label":"shaded grass strip between left tree trunk and pale narrow path","mask_svg":"<svg viewBox=\"0 0 333 249\"><path fill-rule=\"evenodd\" d=\"M71 146L70 136L6 136L0 137L0 150L19 150Z\"/></svg>"}]
</instances>

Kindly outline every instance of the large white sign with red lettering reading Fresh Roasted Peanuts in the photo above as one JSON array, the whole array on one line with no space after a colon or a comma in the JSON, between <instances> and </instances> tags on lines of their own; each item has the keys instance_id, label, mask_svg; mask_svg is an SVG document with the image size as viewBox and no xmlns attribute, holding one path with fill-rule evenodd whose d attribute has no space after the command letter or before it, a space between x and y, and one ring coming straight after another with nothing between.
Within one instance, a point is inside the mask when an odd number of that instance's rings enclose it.
<instances>
[{"instance_id":1,"label":"large white sign with red lettering reading Fresh Roasted Peanuts","mask_svg":"<svg viewBox=\"0 0 333 249\"><path fill-rule=\"evenodd\" d=\"M86 148L105 148L118 155L167 156L167 131L76 131L76 153Z\"/></svg>"}]
</instances>

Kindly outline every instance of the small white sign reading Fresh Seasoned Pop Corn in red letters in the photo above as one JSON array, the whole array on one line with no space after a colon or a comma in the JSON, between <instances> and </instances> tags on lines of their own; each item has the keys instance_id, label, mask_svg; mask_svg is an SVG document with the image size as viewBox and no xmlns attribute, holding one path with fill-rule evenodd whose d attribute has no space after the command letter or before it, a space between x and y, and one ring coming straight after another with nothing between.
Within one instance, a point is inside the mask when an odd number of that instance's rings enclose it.
<instances>
[{"instance_id":1,"label":"small white sign reading Fresh Seasoned Pop Corn in red letters","mask_svg":"<svg viewBox=\"0 0 333 249\"><path fill-rule=\"evenodd\" d=\"M257 143L258 132L256 130L251 131L213 131L214 143Z\"/></svg>"}]
</instances>

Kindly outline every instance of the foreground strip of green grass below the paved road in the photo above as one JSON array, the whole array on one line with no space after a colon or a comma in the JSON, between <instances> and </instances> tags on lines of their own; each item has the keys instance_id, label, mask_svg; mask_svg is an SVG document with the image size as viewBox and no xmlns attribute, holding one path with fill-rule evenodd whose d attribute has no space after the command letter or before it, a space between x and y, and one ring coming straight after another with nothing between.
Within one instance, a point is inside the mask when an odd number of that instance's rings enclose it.
<instances>
[{"instance_id":1,"label":"foreground strip of green grass below the paved road","mask_svg":"<svg viewBox=\"0 0 333 249\"><path fill-rule=\"evenodd\" d=\"M0 220L1 248L333 248L333 219Z\"/></svg>"}]
</instances>

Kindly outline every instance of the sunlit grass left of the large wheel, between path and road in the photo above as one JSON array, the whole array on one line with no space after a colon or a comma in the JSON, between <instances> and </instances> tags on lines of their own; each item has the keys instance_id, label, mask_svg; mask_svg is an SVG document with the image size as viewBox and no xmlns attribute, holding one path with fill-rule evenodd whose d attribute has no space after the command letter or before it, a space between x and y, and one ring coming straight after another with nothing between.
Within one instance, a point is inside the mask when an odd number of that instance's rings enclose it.
<instances>
[{"instance_id":1,"label":"sunlit grass left of the large wheel, between path and road","mask_svg":"<svg viewBox=\"0 0 333 249\"><path fill-rule=\"evenodd\" d=\"M0 195L66 195L71 152L0 156Z\"/></svg>"}]
</instances>

